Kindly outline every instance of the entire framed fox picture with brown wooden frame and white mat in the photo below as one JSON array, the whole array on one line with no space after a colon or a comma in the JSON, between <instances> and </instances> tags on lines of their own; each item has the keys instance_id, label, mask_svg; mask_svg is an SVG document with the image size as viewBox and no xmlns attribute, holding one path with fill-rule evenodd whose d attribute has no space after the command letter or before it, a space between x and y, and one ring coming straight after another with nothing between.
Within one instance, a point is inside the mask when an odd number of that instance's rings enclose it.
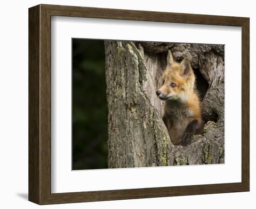
<instances>
[{"instance_id":1,"label":"entire framed fox picture with brown wooden frame and white mat","mask_svg":"<svg viewBox=\"0 0 256 209\"><path fill-rule=\"evenodd\" d=\"M249 191L249 18L28 14L29 201Z\"/></svg>"}]
</instances>

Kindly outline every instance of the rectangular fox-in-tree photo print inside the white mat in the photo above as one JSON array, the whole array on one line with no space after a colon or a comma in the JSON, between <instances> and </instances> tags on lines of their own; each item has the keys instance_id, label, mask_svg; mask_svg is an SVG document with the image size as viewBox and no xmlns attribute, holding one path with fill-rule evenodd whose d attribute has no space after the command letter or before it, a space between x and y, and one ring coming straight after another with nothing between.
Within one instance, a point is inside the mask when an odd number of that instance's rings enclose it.
<instances>
[{"instance_id":1,"label":"rectangular fox-in-tree photo print inside the white mat","mask_svg":"<svg viewBox=\"0 0 256 209\"><path fill-rule=\"evenodd\" d=\"M72 39L72 170L224 163L224 45Z\"/></svg>"}]
</instances>

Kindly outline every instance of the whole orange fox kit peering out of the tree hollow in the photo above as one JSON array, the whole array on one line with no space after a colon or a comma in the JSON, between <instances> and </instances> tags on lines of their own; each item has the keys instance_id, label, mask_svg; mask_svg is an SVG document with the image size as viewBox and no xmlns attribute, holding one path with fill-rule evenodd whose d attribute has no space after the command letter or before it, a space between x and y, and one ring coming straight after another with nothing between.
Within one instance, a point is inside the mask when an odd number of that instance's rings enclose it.
<instances>
[{"instance_id":1,"label":"whole orange fox kit peering out of the tree hollow","mask_svg":"<svg viewBox=\"0 0 256 209\"><path fill-rule=\"evenodd\" d=\"M200 101L195 89L195 75L186 57L181 63L168 50L167 68L162 75L162 86L156 95L165 100L163 121L171 142L188 145L194 134L202 131Z\"/></svg>"}]
</instances>

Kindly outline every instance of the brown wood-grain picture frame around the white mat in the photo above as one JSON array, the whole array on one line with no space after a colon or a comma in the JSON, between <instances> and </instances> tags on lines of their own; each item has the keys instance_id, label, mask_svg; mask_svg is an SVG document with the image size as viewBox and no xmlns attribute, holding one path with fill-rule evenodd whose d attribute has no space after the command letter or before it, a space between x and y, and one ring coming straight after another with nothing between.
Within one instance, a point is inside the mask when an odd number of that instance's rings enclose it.
<instances>
[{"instance_id":1,"label":"brown wood-grain picture frame around the white mat","mask_svg":"<svg viewBox=\"0 0 256 209\"><path fill-rule=\"evenodd\" d=\"M249 18L38 5L29 8L29 186L37 204L249 191ZM242 182L51 193L51 16L242 27Z\"/></svg>"}]
</instances>

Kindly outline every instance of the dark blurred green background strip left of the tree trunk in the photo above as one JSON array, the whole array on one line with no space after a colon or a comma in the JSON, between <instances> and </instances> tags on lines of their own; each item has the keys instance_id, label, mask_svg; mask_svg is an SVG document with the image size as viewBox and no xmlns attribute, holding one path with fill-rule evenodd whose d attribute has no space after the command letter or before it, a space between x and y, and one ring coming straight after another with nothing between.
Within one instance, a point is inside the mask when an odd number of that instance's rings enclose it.
<instances>
[{"instance_id":1,"label":"dark blurred green background strip left of the tree trunk","mask_svg":"<svg viewBox=\"0 0 256 209\"><path fill-rule=\"evenodd\" d=\"M104 40L72 40L73 170L108 168Z\"/></svg>"}]
</instances>

